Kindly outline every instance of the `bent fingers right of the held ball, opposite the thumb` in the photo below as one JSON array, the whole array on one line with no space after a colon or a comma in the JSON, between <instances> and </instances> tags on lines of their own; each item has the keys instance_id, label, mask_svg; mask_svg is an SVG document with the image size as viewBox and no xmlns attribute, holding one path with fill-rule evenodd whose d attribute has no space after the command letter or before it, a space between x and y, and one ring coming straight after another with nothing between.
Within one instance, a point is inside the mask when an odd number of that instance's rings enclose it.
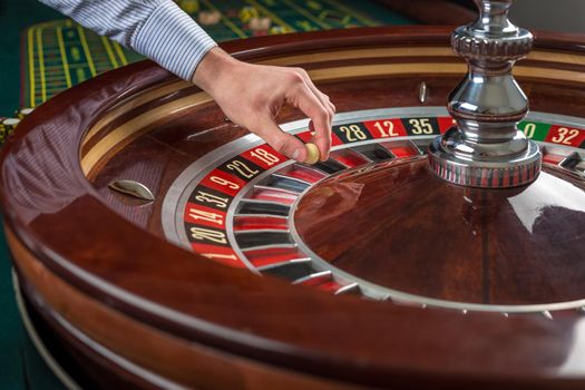
<instances>
[{"instance_id":1,"label":"bent fingers right of the held ball, opposite the thumb","mask_svg":"<svg viewBox=\"0 0 585 390\"><path fill-rule=\"evenodd\" d=\"M310 127L315 134L314 140L319 148L321 160L326 160L331 148L331 121L334 111L329 107L326 101L325 104L321 101L319 95L311 89L304 78L302 78L302 82L299 82L295 88L292 88L289 101L311 119Z\"/></svg>"}]
</instances>

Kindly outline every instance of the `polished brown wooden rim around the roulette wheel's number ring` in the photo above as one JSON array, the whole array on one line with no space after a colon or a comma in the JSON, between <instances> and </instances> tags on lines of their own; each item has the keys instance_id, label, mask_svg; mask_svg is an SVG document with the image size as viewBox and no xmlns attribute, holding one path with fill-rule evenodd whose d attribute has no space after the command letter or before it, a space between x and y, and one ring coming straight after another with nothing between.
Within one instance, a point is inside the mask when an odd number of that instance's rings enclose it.
<instances>
[{"instance_id":1,"label":"polished brown wooden rim around the roulette wheel's number ring","mask_svg":"<svg viewBox=\"0 0 585 390\"><path fill-rule=\"evenodd\" d=\"M250 61L308 68L338 111L442 106L465 71L450 53L449 31L329 31L225 49ZM585 101L581 42L539 36L517 69L533 109L578 115ZM349 96L381 79L397 89ZM422 80L430 90L423 104ZM138 226L114 211L96 187L108 164L134 140L193 111L205 114L197 134L207 130L209 138L191 160L246 134L225 124L197 88L145 61L60 94L35 110L3 149L1 202L23 291L96 383L583 386L583 318L575 308L550 320L540 312L464 314L334 296L211 262L156 234L160 221ZM280 120L298 118L286 110ZM160 191L178 173L168 172ZM162 202L155 207L159 214Z\"/></svg>"}]
</instances>

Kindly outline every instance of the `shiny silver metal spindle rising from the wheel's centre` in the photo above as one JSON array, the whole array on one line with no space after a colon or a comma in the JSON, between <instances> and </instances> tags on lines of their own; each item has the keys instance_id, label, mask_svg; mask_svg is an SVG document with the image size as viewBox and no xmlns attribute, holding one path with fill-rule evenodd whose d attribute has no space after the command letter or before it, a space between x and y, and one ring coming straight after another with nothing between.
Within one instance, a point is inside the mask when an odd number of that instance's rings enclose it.
<instances>
[{"instance_id":1,"label":"shiny silver metal spindle rising from the wheel's centre","mask_svg":"<svg viewBox=\"0 0 585 390\"><path fill-rule=\"evenodd\" d=\"M518 123L528 98L511 75L533 47L533 35L508 20L514 0L475 0L479 19L457 28L454 51L468 64L466 78L449 97L457 125L429 147L431 169L458 185L508 188L533 182L540 150Z\"/></svg>"}]
</instances>

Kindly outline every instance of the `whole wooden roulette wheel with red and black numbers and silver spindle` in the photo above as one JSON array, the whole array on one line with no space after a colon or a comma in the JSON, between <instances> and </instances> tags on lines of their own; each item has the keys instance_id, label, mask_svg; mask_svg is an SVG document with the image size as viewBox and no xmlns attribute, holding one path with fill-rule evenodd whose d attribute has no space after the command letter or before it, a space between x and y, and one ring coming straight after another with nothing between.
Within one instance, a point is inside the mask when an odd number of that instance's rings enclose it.
<instances>
[{"instance_id":1,"label":"whole wooden roulette wheel with red and black numbers and silver spindle","mask_svg":"<svg viewBox=\"0 0 585 390\"><path fill-rule=\"evenodd\" d=\"M33 328L69 374L88 388L582 388L583 41L538 35L514 68L525 95L511 70L532 35L508 22L510 1L477 2L452 37L224 45L303 67L331 96L333 149L315 165L146 61L23 119L2 150L4 226ZM279 121L311 140L298 111Z\"/></svg>"}]
</instances>

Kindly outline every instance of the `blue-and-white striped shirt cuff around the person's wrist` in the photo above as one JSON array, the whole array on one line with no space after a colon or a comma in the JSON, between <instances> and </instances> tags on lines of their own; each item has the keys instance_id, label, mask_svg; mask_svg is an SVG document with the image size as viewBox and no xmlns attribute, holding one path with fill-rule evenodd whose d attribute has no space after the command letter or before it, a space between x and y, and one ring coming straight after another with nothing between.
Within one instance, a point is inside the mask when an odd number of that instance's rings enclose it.
<instances>
[{"instance_id":1,"label":"blue-and-white striped shirt cuff around the person's wrist","mask_svg":"<svg viewBox=\"0 0 585 390\"><path fill-rule=\"evenodd\" d=\"M203 57L217 43L174 1L165 1L136 31L130 46L191 81Z\"/></svg>"}]
</instances>

